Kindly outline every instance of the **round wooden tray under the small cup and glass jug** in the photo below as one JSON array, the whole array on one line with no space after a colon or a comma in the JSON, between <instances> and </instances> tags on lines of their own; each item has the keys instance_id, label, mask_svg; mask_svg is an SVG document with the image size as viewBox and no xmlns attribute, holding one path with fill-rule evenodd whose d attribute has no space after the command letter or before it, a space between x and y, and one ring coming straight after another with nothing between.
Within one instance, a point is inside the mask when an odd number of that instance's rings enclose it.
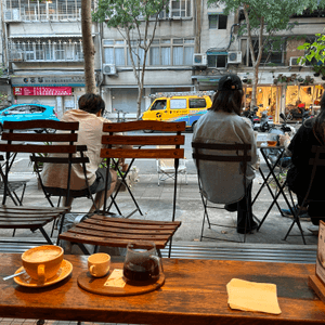
<instances>
[{"instance_id":1,"label":"round wooden tray under the small cup and glass jug","mask_svg":"<svg viewBox=\"0 0 325 325\"><path fill-rule=\"evenodd\" d=\"M122 268L122 265L120 266ZM121 269L121 268L116 268L116 269ZM165 274L162 273L160 274L160 277L157 282L145 286L130 285L127 283L122 288L104 286L105 282L107 281L113 270L114 269L112 269L108 275L105 275L104 277L93 277L89 272L82 273L78 276L78 285L82 289L92 294L116 297L116 296L135 296L135 295L143 295L146 292L151 292L160 288L165 283Z\"/></svg>"}]
</instances>

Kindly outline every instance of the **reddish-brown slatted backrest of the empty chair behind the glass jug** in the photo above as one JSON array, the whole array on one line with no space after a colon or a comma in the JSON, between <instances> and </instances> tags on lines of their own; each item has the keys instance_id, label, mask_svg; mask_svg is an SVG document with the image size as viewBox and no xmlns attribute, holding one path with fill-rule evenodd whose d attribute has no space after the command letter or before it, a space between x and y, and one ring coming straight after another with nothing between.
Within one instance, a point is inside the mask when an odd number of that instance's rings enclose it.
<instances>
[{"instance_id":1,"label":"reddish-brown slatted backrest of the empty chair behind the glass jug","mask_svg":"<svg viewBox=\"0 0 325 325\"><path fill-rule=\"evenodd\" d=\"M103 126L103 131L108 132L108 135L103 135L102 143L107 148L102 148L101 157L108 158L146 158L146 159L161 159L172 158L174 159L176 173L179 167L179 159L184 158L184 148L180 146L184 144L185 136L181 133L185 131L185 122L166 122L156 120L140 120L129 121L121 123L107 122ZM159 134L159 135L129 135L129 134L116 134L128 131L143 131L154 130L161 132L174 132L176 134ZM174 147L161 147L161 146L174 146ZM121 147L129 146L129 147ZM143 148L143 146L153 146L153 148ZM157 147L159 146L159 147ZM107 169L108 172L108 169ZM107 177L106 177L107 179ZM174 188L177 187L177 177L174 180ZM176 191L176 190L174 190ZM106 192L106 191L105 191ZM176 192L174 192L176 200ZM106 197L105 197L106 203ZM104 206L104 210L105 210ZM174 218L174 216L173 216Z\"/></svg>"}]
</instances>

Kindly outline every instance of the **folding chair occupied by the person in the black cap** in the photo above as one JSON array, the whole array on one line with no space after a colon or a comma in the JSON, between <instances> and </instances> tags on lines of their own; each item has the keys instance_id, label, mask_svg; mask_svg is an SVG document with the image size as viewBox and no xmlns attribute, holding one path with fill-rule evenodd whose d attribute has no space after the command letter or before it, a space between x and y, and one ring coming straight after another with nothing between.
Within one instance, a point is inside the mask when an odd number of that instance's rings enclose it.
<instances>
[{"instance_id":1,"label":"folding chair occupied by the person in the black cap","mask_svg":"<svg viewBox=\"0 0 325 325\"><path fill-rule=\"evenodd\" d=\"M211 225L216 226L222 226L222 227L235 227L232 225L224 225L224 224L217 224L217 223L211 223L209 216L208 216L208 208L213 208L213 209L224 209L223 207L217 207L217 206L211 206L208 205L211 202L211 196L210 199L208 198L209 192L213 191L213 185L218 186L218 183L210 183L210 178L209 174L213 172L213 170L203 170L202 162L203 161L213 161L216 162L216 169L219 168L218 173L219 174L225 174L223 172L223 169L226 169L229 164L236 164L238 166L238 176L239 176L239 170L242 171L242 174L239 178L242 178L239 184L234 184L234 186L239 186L242 185L243 187L240 188L240 194L238 195L238 199L240 196L245 196L246 198L246 206L251 207L251 202L248 199L247 195L247 184L246 184L246 168L247 168L247 162L251 161L251 156L248 155L248 151L251 150L250 144L221 144L221 143L198 143L198 142L192 142L192 147L193 147L193 159L195 160L196 169L197 169L197 179L198 179L198 186L199 186L199 192L202 196L202 202L204 205L204 218L203 218L203 225L202 225L202 232L200 232L200 240L203 238L209 238L209 239L216 239L216 240L226 240L226 242L236 242L232 239L227 239L225 237L223 238L218 238L218 237L209 237L204 235L204 230L205 230L205 221L207 220L209 229L211 229ZM219 164L218 164L219 162ZM226 162L226 165L220 165L220 162ZM210 166L210 168L212 168ZM217 171L216 171L217 172ZM230 180L231 182L232 180ZM211 186L212 185L212 186ZM224 204L225 202L224 198L213 199L216 200L214 203L218 204ZM250 208L247 213L251 213ZM252 213L251 213L252 214ZM246 242L246 229L247 229L247 218L245 220L245 234L244 234L244 243Z\"/></svg>"}]
</instances>

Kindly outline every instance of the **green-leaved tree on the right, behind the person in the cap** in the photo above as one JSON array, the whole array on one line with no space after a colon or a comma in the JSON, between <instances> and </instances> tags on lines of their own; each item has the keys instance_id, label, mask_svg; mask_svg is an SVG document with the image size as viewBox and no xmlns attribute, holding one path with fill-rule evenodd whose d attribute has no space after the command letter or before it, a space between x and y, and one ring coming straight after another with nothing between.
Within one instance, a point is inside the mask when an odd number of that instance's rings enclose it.
<instances>
[{"instance_id":1,"label":"green-leaved tree on the right, behind the person in the cap","mask_svg":"<svg viewBox=\"0 0 325 325\"><path fill-rule=\"evenodd\" d=\"M244 10L245 23L240 29L247 34L253 69L251 107L256 105L258 74L265 46L277 32L295 26L290 20L294 14L301 14L306 8L315 10L324 3L325 0L208 0L209 5L223 5L225 14L236 12L239 8ZM257 54L255 38L258 38Z\"/></svg>"}]
</instances>

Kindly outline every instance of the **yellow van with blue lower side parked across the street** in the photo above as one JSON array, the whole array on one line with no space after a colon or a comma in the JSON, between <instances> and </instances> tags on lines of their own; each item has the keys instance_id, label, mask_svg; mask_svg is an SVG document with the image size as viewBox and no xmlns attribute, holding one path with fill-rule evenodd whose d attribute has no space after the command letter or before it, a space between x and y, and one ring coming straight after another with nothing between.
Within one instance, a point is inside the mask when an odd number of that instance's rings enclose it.
<instances>
[{"instance_id":1,"label":"yellow van with blue lower side parked across the street","mask_svg":"<svg viewBox=\"0 0 325 325\"><path fill-rule=\"evenodd\" d=\"M191 116L210 108L209 95L172 95L157 98L142 114L143 120L176 120L181 116ZM193 127L186 125L186 127Z\"/></svg>"}]
</instances>

